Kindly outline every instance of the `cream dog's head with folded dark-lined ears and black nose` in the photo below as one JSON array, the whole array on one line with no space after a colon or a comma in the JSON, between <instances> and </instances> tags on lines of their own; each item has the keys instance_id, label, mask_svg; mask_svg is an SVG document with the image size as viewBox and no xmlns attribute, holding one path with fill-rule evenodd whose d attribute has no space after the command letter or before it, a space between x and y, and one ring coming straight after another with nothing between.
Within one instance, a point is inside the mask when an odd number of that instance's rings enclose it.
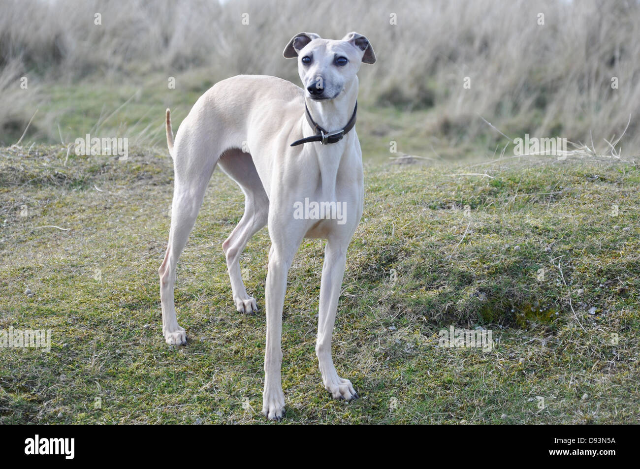
<instances>
[{"instance_id":1,"label":"cream dog's head with folded dark-lined ears and black nose","mask_svg":"<svg viewBox=\"0 0 640 469\"><path fill-rule=\"evenodd\" d=\"M361 63L375 63L369 40L349 33L341 40L323 39L315 33L298 33L282 55L298 58L298 74L308 98L321 101L337 98L356 78Z\"/></svg>"}]
</instances>

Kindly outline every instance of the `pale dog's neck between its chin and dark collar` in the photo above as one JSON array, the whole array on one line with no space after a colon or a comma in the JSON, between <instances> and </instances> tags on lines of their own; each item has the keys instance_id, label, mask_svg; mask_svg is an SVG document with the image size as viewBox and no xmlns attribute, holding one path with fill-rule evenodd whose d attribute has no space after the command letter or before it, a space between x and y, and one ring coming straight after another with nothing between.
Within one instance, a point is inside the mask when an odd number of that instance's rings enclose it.
<instances>
[{"instance_id":1,"label":"pale dog's neck between its chin and dark collar","mask_svg":"<svg viewBox=\"0 0 640 469\"><path fill-rule=\"evenodd\" d=\"M305 97L311 118L328 132L339 131L351 119L353 108L358 99L358 77L344 86L344 90L335 99L315 101ZM310 127L308 127L310 131ZM313 133L310 131L309 133ZM335 145L335 144L333 144Z\"/></svg>"}]
</instances>

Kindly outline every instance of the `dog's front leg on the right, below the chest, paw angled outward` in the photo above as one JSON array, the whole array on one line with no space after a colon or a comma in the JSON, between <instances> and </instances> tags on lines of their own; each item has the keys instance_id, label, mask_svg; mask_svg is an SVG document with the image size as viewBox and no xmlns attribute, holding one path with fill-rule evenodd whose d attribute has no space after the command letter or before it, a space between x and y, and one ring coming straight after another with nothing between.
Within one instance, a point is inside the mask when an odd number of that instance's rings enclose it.
<instances>
[{"instance_id":1,"label":"dog's front leg on the right, below the chest, paw angled outward","mask_svg":"<svg viewBox=\"0 0 640 469\"><path fill-rule=\"evenodd\" d=\"M324 248L316 354L324 388L331 393L333 399L351 401L351 399L356 399L358 394L353 389L351 381L338 376L331 356L333 323L335 322L342 276L344 275L344 266L346 264L347 249L346 245L343 246L342 244L336 241L332 242L330 239L326 243L326 248Z\"/></svg>"}]
</instances>

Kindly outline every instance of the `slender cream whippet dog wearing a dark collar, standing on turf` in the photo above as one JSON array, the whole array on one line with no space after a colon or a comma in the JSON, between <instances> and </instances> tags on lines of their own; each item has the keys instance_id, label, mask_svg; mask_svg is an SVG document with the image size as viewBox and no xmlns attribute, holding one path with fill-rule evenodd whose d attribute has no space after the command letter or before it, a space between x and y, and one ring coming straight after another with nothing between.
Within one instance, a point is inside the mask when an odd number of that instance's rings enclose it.
<instances>
[{"instance_id":1,"label":"slender cream whippet dog wearing a dark collar, standing on turf","mask_svg":"<svg viewBox=\"0 0 640 469\"><path fill-rule=\"evenodd\" d=\"M163 334L186 344L173 303L175 267L202 205L216 164L244 192L244 215L222 244L234 303L257 311L244 289L239 258L246 243L268 225L271 249L265 287L267 316L262 412L280 420L285 401L280 379L282 308L287 273L303 238L326 239L320 285L316 354L324 387L335 399L358 397L333 366L331 340L346 251L362 216L362 152L353 126L361 63L376 56L365 36L342 40L295 35L283 55L298 59L303 88L276 77L241 75L216 83L182 121L173 141L170 111L166 136L175 189L171 230L159 268ZM311 202L309 202L311 201ZM342 208L342 218L301 211L301 204ZM324 205L323 205L324 204ZM302 213L304 212L304 213Z\"/></svg>"}]
</instances>

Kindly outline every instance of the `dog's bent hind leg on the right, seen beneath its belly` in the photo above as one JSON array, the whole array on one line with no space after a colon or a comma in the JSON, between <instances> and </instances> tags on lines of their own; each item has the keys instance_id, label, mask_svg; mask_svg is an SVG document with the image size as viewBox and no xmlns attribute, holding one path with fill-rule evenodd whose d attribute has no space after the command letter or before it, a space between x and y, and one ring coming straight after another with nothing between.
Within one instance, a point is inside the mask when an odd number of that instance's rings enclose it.
<instances>
[{"instance_id":1,"label":"dog's bent hind leg on the right, seen beneath its belly","mask_svg":"<svg viewBox=\"0 0 640 469\"><path fill-rule=\"evenodd\" d=\"M239 259L249 239L267 224L269 198L250 154L238 149L230 150L220 157L219 164L221 170L235 180L244 192L244 215L222 243L222 249L227 256L227 269L236 309L241 313L251 313L257 311L258 306L255 298L249 296L244 288Z\"/></svg>"}]
</instances>

